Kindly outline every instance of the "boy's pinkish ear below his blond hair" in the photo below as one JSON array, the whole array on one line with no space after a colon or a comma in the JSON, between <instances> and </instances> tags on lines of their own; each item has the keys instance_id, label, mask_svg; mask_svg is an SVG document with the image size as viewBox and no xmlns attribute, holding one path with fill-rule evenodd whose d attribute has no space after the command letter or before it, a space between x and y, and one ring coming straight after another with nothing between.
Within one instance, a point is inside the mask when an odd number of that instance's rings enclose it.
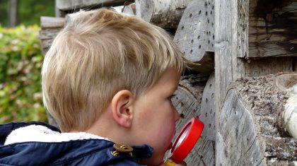
<instances>
[{"instance_id":1,"label":"boy's pinkish ear below his blond hair","mask_svg":"<svg viewBox=\"0 0 297 166\"><path fill-rule=\"evenodd\" d=\"M112 97L112 116L120 126L129 128L132 124L134 97L129 90L120 90Z\"/></svg>"}]
</instances>

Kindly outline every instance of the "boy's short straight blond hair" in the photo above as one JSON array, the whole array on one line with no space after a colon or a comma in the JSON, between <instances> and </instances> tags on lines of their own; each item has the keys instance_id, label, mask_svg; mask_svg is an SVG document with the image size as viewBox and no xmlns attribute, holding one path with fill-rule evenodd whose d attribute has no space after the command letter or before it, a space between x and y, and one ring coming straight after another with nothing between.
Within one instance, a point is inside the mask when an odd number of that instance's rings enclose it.
<instances>
[{"instance_id":1,"label":"boy's short straight blond hair","mask_svg":"<svg viewBox=\"0 0 297 166\"><path fill-rule=\"evenodd\" d=\"M107 9L86 13L59 32L42 66L45 107L62 131L88 129L119 90L138 97L169 67L186 66L162 28Z\"/></svg>"}]
</instances>

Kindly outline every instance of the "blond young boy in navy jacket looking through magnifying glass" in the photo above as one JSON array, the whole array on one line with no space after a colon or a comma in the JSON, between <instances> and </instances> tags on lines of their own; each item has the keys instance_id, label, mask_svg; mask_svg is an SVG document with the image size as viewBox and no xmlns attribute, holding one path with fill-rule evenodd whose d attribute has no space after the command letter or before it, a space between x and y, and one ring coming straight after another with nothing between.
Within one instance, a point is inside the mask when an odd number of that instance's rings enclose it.
<instances>
[{"instance_id":1,"label":"blond young boy in navy jacket looking through magnifying glass","mask_svg":"<svg viewBox=\"0 0 297 166\"><path fill-rule=\"evenodd\" d=\"M9 124L18 129L6 132L0 165L164 165L186 66L163 29L106 9L80 13L42 66L45 107L62 133Z\"/></svg>"}]
</instances>

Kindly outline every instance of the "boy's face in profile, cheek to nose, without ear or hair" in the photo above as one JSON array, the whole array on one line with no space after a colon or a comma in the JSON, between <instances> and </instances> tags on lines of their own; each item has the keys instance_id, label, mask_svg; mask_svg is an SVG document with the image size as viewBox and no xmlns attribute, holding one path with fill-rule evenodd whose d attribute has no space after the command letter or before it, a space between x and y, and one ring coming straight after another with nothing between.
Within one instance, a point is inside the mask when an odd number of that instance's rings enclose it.
<instances>
[{"instance_id":1,"label":"boy's face in profile, cheek to nose, without ear or hair","mask_svg":"<svg viewBox=\"0 0 297 166\"><path fill-rule=\"evenodd\" d=\"M139 96L134 103L135 142L153 147L152 158L144 160L146 165L159 165L163 162L166 150L170 148L175 134L175 122L180 114L171 97L177 89L180 73L176 69L167 69L153 88Z\"/></svg>"}]
</instances>

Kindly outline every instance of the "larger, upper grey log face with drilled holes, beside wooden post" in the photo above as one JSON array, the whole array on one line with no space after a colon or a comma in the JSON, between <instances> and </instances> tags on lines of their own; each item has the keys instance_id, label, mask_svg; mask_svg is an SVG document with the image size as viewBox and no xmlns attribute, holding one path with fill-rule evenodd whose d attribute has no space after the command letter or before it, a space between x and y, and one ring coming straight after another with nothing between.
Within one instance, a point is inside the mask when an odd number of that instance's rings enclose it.
<instances>
[{"instance_id":1,"label":"larger, upper grey log face with drilled holes, beside wooden post","mask_svg":"<svg viewBox=\"0 0 297 166\"><path fill-rule=\"evenodd\" d=\"M202 64L209 71L214 69L214 57L209 53L214 52L214 0L188 4L174 41L187 59Z\"/></svg>"}]
</instances>

